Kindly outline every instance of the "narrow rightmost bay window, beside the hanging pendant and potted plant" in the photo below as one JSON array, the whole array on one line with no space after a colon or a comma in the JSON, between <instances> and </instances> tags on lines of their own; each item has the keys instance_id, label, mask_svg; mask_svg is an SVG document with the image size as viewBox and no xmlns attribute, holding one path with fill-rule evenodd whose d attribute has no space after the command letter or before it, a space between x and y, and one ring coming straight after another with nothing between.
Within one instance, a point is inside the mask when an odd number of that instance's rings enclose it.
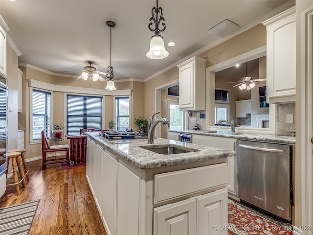
<instances>
[{"instance_id":1,"label":"narrow rightmost bay window, beside the hanging pendant and potted plant","mask_svg":"<svg viewBox=\"0 0 313 235\"><path fill-rule=\"evenodd\" d=\"M116 130L126 131L129 128L129 97L115 97Z\"/></svg>"}]
</instances>

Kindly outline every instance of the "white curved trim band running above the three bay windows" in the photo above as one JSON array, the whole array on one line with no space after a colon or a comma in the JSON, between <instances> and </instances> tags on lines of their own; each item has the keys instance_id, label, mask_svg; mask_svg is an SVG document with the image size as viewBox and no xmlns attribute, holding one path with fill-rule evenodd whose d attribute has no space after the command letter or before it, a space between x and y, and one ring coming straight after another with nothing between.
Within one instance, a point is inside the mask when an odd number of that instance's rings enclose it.
<instances>
[{"instance_id":1,"label":"white curved trim band running above the three bay windows","mask_svg":"<svg viewBox=\"0 0 313 235\"><path fill-rule=\"evenodd\" d=\"M52 92L64 92L64 93L75 93L75 94L97 94L97 95L132 95L132 90L104 90L95 88L82 88L82 87L71 87L71 86L61 86L54 85L42 81L37 81L34 79L27 79L28 87L40 88Z\"/></svg>"}]
</instances>

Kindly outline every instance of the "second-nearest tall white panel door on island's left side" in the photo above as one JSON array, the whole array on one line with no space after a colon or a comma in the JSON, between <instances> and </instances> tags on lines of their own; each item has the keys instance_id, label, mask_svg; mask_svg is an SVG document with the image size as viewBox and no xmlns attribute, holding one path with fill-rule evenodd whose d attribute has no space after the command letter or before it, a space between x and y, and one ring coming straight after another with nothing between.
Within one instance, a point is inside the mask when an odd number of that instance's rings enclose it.
<instances>
[{"instance_id":1,"label":"second-nearest tall white panel door on island's left side","mask_svg":"<svg viewBox=\"0 0 313 235\"><path fill-rule=\"evenodd\" d=\"M116 223L116 171L117 161L107 151L103 158L103 208L102 220L108 235L115 234Z\"/></svg>"}]
</instances>

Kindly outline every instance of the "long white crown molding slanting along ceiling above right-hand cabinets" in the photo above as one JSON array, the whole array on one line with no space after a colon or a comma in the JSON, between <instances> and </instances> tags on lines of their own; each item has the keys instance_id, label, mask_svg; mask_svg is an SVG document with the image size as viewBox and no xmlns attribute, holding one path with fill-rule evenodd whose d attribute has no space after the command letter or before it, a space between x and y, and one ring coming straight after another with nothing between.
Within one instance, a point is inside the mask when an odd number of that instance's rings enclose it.
<instances>
[{"instance_id":1,"label":"long white crown molding slanting along ceiling above right-hand cabinets","mask_svg":"<svg viewBox=\"0 0 313 235\"><path fill-rule=\"evenodd\" d=\"M254 26L258 25L258 24L262 24L262 22L264 22L264 21L268 20L269 18L271 18L271 17L281 13L282 11L285 11L285 10L293 7L294 5L295 5L295 0L290 0L290 1L286 2L285 4L283 4L283 5L275 8L274 10L270 11L268 14L263 15L262 17L254 20L252 22L250 22L249 24L246 24L245 26L241 27L240 29L238 29L234 33L231 33L228 36L225 36L224 38L216 40L215 42L210 43L210 44L208 44L205 47L202 47L201 49L193 52L192 54L190 54L190 55L184 57L183 59L177 61L176 63L166 67L165 69L163 69L161 71L158 71L155 74L145 78L144 82L149 81L150 79L152 79L152 78L154 78L154 77L156 77L156 76L158 76L158 75L160 75L160 74L162 74L162 73L164 73L166 71L169 71L169 70L177 67L179 64L183 63L184 61L189 60L190 58L192 58L194 56L197 56L197 55L207 51L208 49L211 49L212 47L216 47L217 45L219 45L221 43L224 43L228 39L231 39L231 38L237 36L238 34L241 34L241 33L245 32L246 30L248 30L248 29L250 29L250 28L252 28L252 27L254 27Z\"/></svg>"}]
</instances>

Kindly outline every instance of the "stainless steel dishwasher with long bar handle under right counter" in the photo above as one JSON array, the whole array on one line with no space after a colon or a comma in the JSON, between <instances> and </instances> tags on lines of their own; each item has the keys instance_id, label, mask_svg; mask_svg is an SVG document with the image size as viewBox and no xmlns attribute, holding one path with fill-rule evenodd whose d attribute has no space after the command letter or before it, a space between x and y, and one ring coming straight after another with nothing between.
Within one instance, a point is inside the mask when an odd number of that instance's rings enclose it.
<instances>
[{"instance_id":1,"label":"stainless steel dishwasher with long bar handle under right counter","mask_svg":"<svg viewBox=\"0 0 313 235\"><path fill-rule=\"evenodd\" d=\"M291 221L292 145L236 141L236 196Z\"/></svg>"}]
</instances>

